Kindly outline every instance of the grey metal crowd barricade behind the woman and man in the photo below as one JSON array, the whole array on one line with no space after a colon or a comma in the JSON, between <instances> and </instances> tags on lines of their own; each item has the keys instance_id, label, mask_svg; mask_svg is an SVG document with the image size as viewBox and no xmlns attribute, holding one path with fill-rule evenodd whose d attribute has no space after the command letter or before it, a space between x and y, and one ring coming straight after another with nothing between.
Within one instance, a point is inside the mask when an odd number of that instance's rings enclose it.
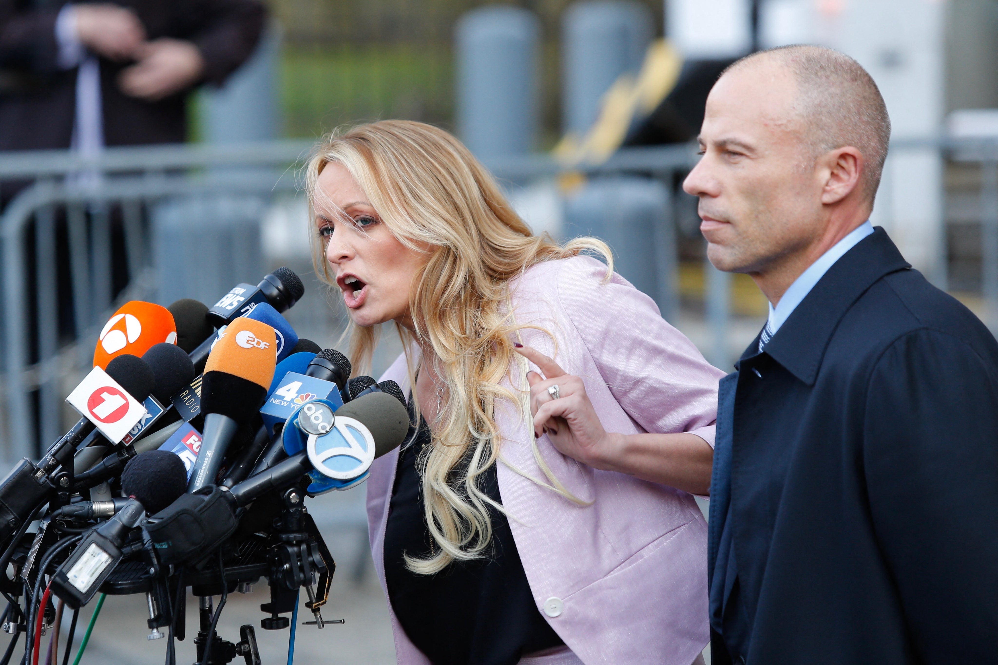
<instances>
[{"instance_id":1,"label":"grey metal crowd barricade behind the woman and man","mask_svg":"<svg viewBox=\"0 0 998 665\"><path fill-rule=\"evenodd\" d=\"M294 190L298 181L293 166L302 163L311 146L305 142L274 142L122 148L107 150L99 159L90 161L55 151L4 154L0 158L0 180L33 180L0 217L4 369L0 377L0 391L4 394L0 397L5 398L0 411L3 420L0 458L4 462L37 455L40 446L51 444L53 437L62 434L68 425L60 419L66 392L61 382L73 372L80 374L89 369L92 349L79 342L94 337L95 326L103 324L115 306L111 301L108 210L112 206L120 210L129 266L128 286L118 300L142 299L156 286L151 270L149 224L143 214L148 205L194 194L254 195L265 199L274 192ZM926 148L940 151L948 160L981 166L982 291L987 322L995 330L998 328L998 142L896 142L891 146L891 156ZM678 146L624 150L601 165L565 166L543 155L493 158L485 163L510 187L543 178L572 176L621 181L638 176L660 181L665 193L659 200L666 201L664 214L657 217L662 232L648 239L654 245L655 261L650 263L646 257L644 262L635 261L635 264L657 266L654 282L657 299L664 316L673 321L679 309L676 214L681 204L690 202L683 200L689 197L678 183L696 161L692 147ZM81 173L89 176L81 177ZM890 159L885 181L889 177ZM889 217L889 198L878 199L878 205L880 218ZM55 232L59 214L65 214L67 219L68 246L62 248ZM83 223L87 215L89 240ZM33 243L28 241L27 232L32 227ZM26 249L32 245L33 251L29 253ZM939 250L945 251L944 238L940 238ZM77 335L76 342L64 339L61 347L56 325L59 284L55 277L60 255L68 257L68 272L72 276L68 297L72 301ZM31 267L34 271L29 274ZM728 368L735 359L731 343L731 278L705 265L705 281L707 332L701 345L709 360ZM95 293L103 296L95 298ZM66 299L64 294L62 301ZM36 427L36 421L41 427Z\"/></svg>"}]
</instances>

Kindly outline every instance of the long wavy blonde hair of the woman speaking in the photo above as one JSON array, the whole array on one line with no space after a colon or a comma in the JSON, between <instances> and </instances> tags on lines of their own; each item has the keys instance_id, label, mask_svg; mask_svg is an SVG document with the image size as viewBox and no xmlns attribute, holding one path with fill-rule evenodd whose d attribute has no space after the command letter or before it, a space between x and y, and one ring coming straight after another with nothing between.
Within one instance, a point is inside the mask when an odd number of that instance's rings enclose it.
<instances>
[{"instance_id":1,"label":"long wavy blonde hair of the woman speaking","mask_svg":"<svg viewBox=\"0 0 998 665\"><path fill-rule=\"evenodd\" d=\"M430 125L382 121L333 132L307 166L309 202L318 193L319 173L330 162L349 171L381 223L403 245L429 253L409 293L414 327L396 328L406 350L413 399L412 349L422 349L422 362L433 363L445 383L432 445L417 465L426 523L436 546L426 558L406 554L411 570L431 574L454 559L486 556L492 538L488 505L502 509L480 486L499 455L497 402L511 400L521 413L526 403L522 394L501 385L517 357L513 337L524 327L512 318L510 280L541 261L587 250L605 257L609 276L610 249L596 238L576 238L562 246L546 233L532 234L491 174L457 139ZM317 231L312 236L316 273L334 284ZM376 328L350 325L355 372L370 366ZM418 418L418 403L416 413ZM571 498L533 439L531 444L548 487Z\"/></svg>"}]
</instances>

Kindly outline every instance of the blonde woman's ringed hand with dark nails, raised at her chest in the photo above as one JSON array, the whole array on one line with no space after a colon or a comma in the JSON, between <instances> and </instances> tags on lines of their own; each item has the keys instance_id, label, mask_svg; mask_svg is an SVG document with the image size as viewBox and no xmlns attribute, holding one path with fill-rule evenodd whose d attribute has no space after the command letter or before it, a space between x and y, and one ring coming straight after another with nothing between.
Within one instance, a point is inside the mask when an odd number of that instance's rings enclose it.
<instances>
[{"instance_id":1,"label":"blonde woman's ringed hand with dark nails, raised at her chest","mask_svg":"<svg viewBox=\"0 0 998 665\"><path fill-rule=\"evenodd\" d=\"M614 448L614 435L603 429L593 403L586 395L582 379L572 376L551 358L529 346L516 350L544 372L528 372L530 413L534 416L534 436L547 434L562 455L596 469L609 469L607 454ZM545 378L547 377L547 378ZM557 386L558 399L551 394Z\"/></svg>"}]
</instances>

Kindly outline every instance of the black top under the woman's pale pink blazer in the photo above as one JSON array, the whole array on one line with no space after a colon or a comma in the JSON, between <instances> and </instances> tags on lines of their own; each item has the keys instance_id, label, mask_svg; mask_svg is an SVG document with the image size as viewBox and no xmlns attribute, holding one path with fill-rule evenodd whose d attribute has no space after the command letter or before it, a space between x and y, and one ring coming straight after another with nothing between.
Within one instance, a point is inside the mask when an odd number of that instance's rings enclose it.
<instances>
[{"instance_id":1,"label":"black top under the woman's pale pink blazer","mask_svg":"<svg viewBox=\"0 0 998 665\"><path fill-rule=\"evenodd\" d=\"M534 604L509 522L498 510L490 508L491 557L455 561L434 575L405 567L403 552L430 553L416 471L416 457L429 443L423 421L398 456L384 534L388 597L405 634L434 665L515 665L524 654L564 644ZM482 490L501 503L495 465L484 478Z\"/></svg>"}]
</instances>

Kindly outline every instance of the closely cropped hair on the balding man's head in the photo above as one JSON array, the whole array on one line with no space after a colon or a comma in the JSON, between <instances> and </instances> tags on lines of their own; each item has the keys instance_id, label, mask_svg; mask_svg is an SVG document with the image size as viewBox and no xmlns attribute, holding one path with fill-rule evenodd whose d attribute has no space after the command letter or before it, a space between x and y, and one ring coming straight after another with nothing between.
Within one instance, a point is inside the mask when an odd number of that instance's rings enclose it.
<instances>
[{"instance_id":1,"label":"closely cropped hair on the balding man's head","mask_svg":"<svg viewBox=\"0 0 998 665\"><path fill-rule=\"evenodd\" d=\"M845 146L865 158L861 175L872 204L890 143L890 117L873 78L855 60L823 46L780 46L753 53L726 69L775 59L798 86L796 110L807 124L815 157Z\"/></svg>"}]
</instances>

